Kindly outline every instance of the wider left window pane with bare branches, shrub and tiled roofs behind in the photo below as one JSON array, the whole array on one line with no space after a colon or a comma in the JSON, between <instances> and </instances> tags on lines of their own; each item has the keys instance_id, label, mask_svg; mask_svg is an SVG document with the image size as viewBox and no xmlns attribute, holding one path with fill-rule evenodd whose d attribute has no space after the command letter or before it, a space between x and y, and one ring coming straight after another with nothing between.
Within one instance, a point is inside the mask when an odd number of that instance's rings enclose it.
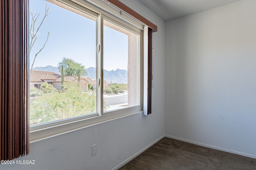
<instances>
[{"instance_id":1,"label":"wider left window pane with bare branches, shrub and tiled roofs behind","mask_svg":"<svg viewBox=\"0 0 256 170\"><path fill-rule=\"evenodd\" d=\"M96 17L51 2L30 0L30 125L96 113Z\"/></svg>"}]
</instances>

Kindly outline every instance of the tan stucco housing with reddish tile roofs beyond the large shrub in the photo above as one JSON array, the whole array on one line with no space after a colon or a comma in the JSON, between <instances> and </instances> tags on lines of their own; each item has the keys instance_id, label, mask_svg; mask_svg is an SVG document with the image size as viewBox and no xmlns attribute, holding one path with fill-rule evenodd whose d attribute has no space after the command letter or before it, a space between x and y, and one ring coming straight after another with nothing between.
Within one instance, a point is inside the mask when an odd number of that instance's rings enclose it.
<instances>
[{"instance_id":1,"label":"tan stucco housing with reddish tile roofs beyond the large shrub","mask_svg":"<svg viewBox=\"0 0 256 170\"><path fill-rule=\"evenodd\" d=\"M57 90L61 90L61 76L55 72L32 70L30 76L30 88L41 88L42 83L52 84ZM78 76L64 76L64 82L78 83ZM80 78L80 86L84 91L88 90L88 80L84 76Z\"/></svg>"}]
</instances>

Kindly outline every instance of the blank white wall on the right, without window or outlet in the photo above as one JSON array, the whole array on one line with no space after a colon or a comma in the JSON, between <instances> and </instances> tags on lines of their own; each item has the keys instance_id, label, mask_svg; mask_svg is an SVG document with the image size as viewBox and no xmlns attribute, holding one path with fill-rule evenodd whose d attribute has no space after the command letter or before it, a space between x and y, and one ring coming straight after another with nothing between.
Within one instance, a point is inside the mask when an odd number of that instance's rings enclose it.
<instances>
[{"instance_id":1,"label":"blank white wall on the right, without window or outlet","mask_svg":"<svg viewBox=\"0 0 256 170\"><path fill-rule=\"evenodd\" d=\"M166 135L256 158L256 1L166 22Z\"/></svg>"}]
</instances>

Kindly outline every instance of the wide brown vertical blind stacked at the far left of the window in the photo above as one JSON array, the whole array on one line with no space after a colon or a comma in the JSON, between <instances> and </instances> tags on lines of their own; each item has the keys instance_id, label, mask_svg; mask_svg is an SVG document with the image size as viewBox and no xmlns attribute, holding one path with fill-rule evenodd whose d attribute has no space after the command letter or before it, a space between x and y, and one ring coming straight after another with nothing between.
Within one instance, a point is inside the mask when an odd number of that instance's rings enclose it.
<instances>
[{"instance_id":1,"label":"wide brown vertical blind stacked at the far left of the window","mask_svg":"<svg viewBox=\"0 0 256 170\"><path fill-rule=\"evenodd\" d=\"M29 152L28 0L0 2L0 160Z\"/></svg>"}]
</instances>

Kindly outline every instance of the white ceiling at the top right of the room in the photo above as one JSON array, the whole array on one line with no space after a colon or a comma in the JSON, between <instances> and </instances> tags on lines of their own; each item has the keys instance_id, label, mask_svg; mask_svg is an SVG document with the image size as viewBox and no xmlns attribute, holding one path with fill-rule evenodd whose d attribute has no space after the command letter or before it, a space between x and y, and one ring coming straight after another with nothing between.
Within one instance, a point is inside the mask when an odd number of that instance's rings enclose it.
<instances>
[{"instance_id":1,"label":"white ceiling at the top right of the room","mask_svg":"<svg viewBox=\"0 0 256 170\"><path fill-rule=\"evenodd\" d=\"M163 20L172 20L240 0L138 0Z\"/></svg>"}]
</instances>

